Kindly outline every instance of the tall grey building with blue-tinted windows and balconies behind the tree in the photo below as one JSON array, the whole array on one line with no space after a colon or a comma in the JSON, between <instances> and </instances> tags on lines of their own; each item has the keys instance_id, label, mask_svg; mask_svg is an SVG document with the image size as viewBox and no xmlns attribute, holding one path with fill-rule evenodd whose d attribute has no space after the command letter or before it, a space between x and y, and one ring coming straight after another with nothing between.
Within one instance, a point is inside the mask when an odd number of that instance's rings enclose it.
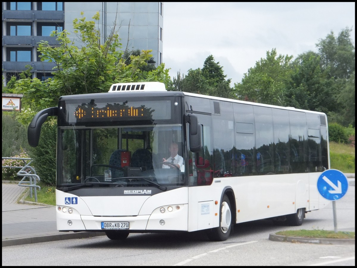
<instances>
[{"instance_id":1,"label":"tall grey building with blue-tinted windows and balconies behind the tree","mask_svg":"<svg viewBox=\"0 0 357 268\"><path fill-rule=\"evenodd\" d=\"M105 38L113 27L119 29L122 50L152 50L156 66L162 63L162 2L3 2L2 75L4 84L11 76L32 67L32 78L52 77L55 63L40 61L38 43L59 45L54 30L66 30L75 40L73 20L93 20L100 13L98 28ZM104 40L102 40L104 41ZM80 43L76 43L80 46Z\"/></svg>"}]
</instances>

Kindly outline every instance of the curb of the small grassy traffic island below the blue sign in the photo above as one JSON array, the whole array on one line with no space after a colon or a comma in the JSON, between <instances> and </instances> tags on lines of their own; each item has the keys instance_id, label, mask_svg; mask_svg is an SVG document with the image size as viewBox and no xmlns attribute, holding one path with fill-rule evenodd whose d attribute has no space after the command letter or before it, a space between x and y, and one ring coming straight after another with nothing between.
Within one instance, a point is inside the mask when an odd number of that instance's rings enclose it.
<instances>
[{"instance_id":1,"label":"curb of the small grassy traffic island below the blue sign","mask_svg":"<svg viewBox=\"0 0 357 268\"><path fill-rule=\"evenodd\" d=\"M278 234L269 234L269 240L277 242L291 243L312 243L312 244L355 244L355 239L340 239L340 238L307 238L307 237L292 237L281 236Z\"/></svg>"}]
</instances>

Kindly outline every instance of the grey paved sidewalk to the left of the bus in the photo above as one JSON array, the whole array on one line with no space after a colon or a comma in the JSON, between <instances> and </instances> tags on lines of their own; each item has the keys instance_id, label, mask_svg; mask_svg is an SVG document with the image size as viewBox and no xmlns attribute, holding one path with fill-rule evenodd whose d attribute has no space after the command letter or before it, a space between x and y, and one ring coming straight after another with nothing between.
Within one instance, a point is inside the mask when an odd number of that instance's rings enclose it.
<instances>
[{"instance_id":1,"label":"grey paved sidewalk to the left of the bus","mask_svg":"<svg viewBox=\"0 0 357 268\"><path fill-rule=\"evenodd\" d=\"M355 186L355 174L345 175L349 185ZM105 235L104 232L57 231L55 206L27 202L24 197L17 203L27 187L10 181L4 182L2 181L2 247Z\"/></svg>"}]
</instances>

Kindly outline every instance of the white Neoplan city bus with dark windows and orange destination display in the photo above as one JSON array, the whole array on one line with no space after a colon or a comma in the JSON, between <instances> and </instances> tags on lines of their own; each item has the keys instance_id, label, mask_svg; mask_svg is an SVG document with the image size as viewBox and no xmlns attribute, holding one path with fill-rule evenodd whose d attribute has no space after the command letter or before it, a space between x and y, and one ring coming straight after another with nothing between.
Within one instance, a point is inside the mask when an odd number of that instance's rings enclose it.
<instances>
[{"instance_id":1,"label":"white Neoplan city bus with dark windows and orange destination display","mask_svg":"<svg viewBox=\"0 0 357 268\"><path fill-rule=\"evenodd\" d=\"M237 223L300 226L328 202L326 114L180 91L160 82L62 96L28 127L57 117L56 221L61 232L203 231L225 241ZM164 168L170 144L180 167Z\"/></svg>"}]
</instances>

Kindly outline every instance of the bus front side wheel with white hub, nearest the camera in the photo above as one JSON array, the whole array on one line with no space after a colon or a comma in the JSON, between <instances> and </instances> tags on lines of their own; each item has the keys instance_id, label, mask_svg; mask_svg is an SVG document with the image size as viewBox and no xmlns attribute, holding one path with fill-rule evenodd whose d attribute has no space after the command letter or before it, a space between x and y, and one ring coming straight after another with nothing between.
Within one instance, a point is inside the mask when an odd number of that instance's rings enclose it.
<instances>
[{"instance_id":1,"label":"bus front side wheel with white hub, nearest the camera","mask_svg":"<svg viewBox=\"0 0 357 268\"><path fill-rule=\"evenodd\" d=\"M226 195L223 196L220 213L220 226L207 230L207 236L211 241L225 241L232 229L231 203Z\"/></svg>"}]
</instances>

